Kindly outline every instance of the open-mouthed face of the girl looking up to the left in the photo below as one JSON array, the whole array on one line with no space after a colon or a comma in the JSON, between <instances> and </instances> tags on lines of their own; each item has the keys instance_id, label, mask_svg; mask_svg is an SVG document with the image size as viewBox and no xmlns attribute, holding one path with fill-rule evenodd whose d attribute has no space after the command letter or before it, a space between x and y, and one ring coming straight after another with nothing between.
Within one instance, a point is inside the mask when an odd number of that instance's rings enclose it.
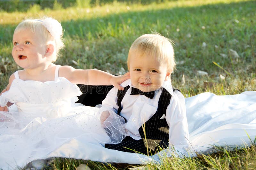
<instances>
[{"instance_id":1,"label":"open-mouthed face of the girl looking up to the left","mask_svg":"<svg viewBox=\"0 0 256 170\"><path fill-rule=\"evenodd\" d=\"M13 34L12 57L16 64L24 69L44 66L47 46L42 43L40 35L30 29L21 29Z\"/></svg>"}]
</instances>

